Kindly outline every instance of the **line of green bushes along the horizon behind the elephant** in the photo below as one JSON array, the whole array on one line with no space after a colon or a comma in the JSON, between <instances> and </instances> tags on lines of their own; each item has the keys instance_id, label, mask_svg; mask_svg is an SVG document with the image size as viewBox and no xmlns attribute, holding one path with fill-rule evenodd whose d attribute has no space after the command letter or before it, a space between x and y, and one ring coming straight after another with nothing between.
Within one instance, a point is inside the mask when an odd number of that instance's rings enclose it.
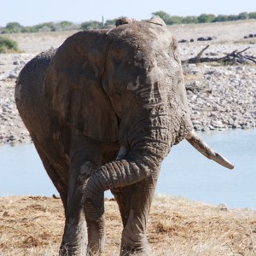
<instances>
[{"instance_id":1,"label":"line of green bushes along the horizon behind the elephant","mask_svg":"<svg viewBox=\"0 0 256 256\"><path fill-rule=\"evenodd\" d=\"M152 15L159 15L165 22L166 25L174 24L189 24L189 23L209 23L209 22L223 22L232 20L248 20L256 19L256 12L247 13L243 12L239 15L206 15L202 14L199 16L172 16L168 15L164 11L157 11ZM17 33L17 32L52 32L52 31L67 31L67 30L85 30L102 28L103 26L114 25L115 20L97 21L90 20L85 21L81 24L74 24L70 21L61 22L46 22L36 26L21 26L19 22L9 22L5 27L0 27L0 33Z\"/></svg>"}]
</instances>

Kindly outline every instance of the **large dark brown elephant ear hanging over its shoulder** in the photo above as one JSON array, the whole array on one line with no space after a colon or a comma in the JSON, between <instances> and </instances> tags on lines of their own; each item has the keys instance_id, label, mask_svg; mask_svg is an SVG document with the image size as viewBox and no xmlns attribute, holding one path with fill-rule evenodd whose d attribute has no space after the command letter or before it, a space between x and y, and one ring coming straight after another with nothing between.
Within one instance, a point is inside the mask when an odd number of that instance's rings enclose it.
<instances>
[{"instance_id":1,"label":"large dark brown elephant ear hanging over its shoulder","mask_svg":"<svg viewBox=\"0 0 256 256\"><path fill-rule=\"evenodd\" d=\"M84 135L115 142L118 119L101 84L106 41L104 31L67 38L47 70L44 96L62 119Z\"/></svg>"}]
</instances>

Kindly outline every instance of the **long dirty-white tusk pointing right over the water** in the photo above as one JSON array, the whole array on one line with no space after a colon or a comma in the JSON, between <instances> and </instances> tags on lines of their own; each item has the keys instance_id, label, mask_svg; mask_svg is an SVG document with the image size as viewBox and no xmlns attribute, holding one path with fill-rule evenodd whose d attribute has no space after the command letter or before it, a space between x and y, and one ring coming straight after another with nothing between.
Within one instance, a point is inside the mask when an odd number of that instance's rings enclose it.
<instances>
[{"instance_id":1,"label":"long dirty-white tusk pointing right over the water","mask_svg":"<svg viewBox=\"0 0 256 256\"><path fill-rule=\"evenodd\" d=\"M234 165L230 163L230 161L224 159L223 156L214 152L212 148L207 146L200 137L198 137L194 130L190 131L186 136L187 141L197 149L201 154L204 154L208 159L216 161L219 165L227 167L229 169L233 169Z\"/></svg>"}]
</instances>

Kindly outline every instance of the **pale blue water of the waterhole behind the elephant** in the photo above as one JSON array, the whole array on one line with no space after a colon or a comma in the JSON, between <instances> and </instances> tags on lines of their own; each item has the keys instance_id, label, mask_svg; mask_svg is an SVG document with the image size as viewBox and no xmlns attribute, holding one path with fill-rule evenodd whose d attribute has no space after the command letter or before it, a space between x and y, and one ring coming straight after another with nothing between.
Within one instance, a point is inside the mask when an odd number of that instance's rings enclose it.
<instances>
[{"instance_id":1,"label":"pale blue water of the waterhole behind the elephant","mask_svg":"<svg viewBox=\"0 0 256 256\"><path fill-rule=\"evenodd\" d=\"M235 164L235 169L208 160L184 140L164 160L156 193L256 209L256 130L214 131L200 136ZM57 194L32 144L0 147L0 163L0 195Z\"/></svg>"}]
</instances>

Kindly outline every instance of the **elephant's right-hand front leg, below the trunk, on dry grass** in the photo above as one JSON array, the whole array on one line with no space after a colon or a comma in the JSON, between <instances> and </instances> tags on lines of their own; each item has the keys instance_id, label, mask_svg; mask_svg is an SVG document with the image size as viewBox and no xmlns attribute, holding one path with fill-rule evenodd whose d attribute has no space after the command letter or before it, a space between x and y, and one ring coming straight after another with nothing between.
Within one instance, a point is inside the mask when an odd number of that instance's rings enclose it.
<instances>
[{"instance_id":1,"label":"elephant's right-hand front leg, below the trunk, on dry grass","mask_svg":"<svg viewBox=\"0 0 256 256\"><path fill-rule=\"evenodd\" d=\"M146 229L156 181L157 173L142 182L112 190L124 225L121 256L150 255Z\"/></svg>"}]
</instances>

